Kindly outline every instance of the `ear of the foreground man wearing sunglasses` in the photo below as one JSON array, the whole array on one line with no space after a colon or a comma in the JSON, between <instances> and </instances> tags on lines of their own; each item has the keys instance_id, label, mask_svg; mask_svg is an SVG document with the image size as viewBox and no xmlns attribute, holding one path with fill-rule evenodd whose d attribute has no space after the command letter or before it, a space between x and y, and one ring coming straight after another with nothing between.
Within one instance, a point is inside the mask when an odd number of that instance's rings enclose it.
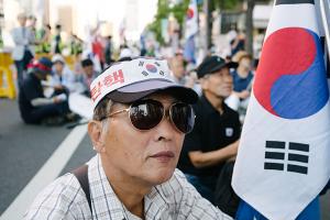
<instances>
[{"instance_id":1,"label":"ear of the foreground man wearing sunglasses","mask_svg":"<svg viewBox=\"0 0 330 220\"><path fill-rule=\"evenodd\" d=\"M102 123L100 121L91 120L88 123L88 135L91 140L94 148L98 153L105 152L105 142L102 140Z\"/></svg>"}]
</instances>

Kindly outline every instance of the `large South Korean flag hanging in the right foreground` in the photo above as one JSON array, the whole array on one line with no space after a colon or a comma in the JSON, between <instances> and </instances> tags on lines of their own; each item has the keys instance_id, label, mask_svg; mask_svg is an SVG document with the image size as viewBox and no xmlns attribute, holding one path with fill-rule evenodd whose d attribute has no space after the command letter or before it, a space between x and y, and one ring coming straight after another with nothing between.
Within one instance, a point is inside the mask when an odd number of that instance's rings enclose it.
<instances>
[{"instance_id":1,"label":"large South Korean flag hanging in the right foreground","mask_svg":"<svg viewBox=\"0 0 330 220\"><path fill-rule=\"evenodd\" d=\"M271 220L296 219L330 177L329 88L318 29L314 0L275 1L232 178L246 206Z\"/></svg>"}]
</instances>

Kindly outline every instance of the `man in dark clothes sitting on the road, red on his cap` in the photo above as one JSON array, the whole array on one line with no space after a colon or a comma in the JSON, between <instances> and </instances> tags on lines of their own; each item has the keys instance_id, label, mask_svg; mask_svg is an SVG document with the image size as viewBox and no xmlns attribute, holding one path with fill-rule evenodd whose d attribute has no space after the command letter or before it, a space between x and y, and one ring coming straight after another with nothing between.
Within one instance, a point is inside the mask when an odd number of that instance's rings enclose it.
<instances>
[{"instance_id":1,"label":"man in dark clothes sitting on the road, red on his cap","mask_svg":"<svg viewBox=\"0 0 330 220\"><path fill-rule=\"evenodd\" d=\"M59 95L52 98L44 96L41 80L45 80L47 75L51 74L52 65L48 58L40 58L32 64L28 77L22 82L19 94L19 107L25 123L41 123L47 118L65 116L69 112L65 96ZM58 118L57 122L59 123Z\"/></svg>"}]
</instances>

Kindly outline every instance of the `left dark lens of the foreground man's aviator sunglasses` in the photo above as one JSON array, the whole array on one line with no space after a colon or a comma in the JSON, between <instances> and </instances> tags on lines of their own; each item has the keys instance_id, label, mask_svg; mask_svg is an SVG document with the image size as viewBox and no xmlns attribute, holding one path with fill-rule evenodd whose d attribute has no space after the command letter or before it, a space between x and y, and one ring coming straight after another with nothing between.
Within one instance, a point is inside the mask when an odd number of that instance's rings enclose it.
<instances>
[{"instance_id":1,"label":"left dark lens of the foreground man's aviator sunglasses","mask_svg":"<svg viewBox=\"0 0 330 220\"><path fill-rule=\"evenodd\" d=\"M150 130L163 119L163 106L157 101L136 102L131 106L130 119L139 130Z\"/></svg>"}]
</instances>

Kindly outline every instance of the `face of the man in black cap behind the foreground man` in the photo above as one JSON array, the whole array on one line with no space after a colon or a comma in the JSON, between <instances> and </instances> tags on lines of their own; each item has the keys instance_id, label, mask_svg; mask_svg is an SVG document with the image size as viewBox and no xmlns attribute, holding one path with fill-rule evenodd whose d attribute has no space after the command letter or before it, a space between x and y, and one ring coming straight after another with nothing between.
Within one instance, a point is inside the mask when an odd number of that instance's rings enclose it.
<instances>
[{"instance_id":1,"label":"face of the man in black cap behind the foreground man","mask_svg":"<svg viewBox=\"0 0 330 220\"><path fill-rule=\"evenodd\" d=\"M205 92L209 92L219 98L227 98L232 92L232 76L228 67L206 76L201 80Z\"/></svg>"}]
</instances>

